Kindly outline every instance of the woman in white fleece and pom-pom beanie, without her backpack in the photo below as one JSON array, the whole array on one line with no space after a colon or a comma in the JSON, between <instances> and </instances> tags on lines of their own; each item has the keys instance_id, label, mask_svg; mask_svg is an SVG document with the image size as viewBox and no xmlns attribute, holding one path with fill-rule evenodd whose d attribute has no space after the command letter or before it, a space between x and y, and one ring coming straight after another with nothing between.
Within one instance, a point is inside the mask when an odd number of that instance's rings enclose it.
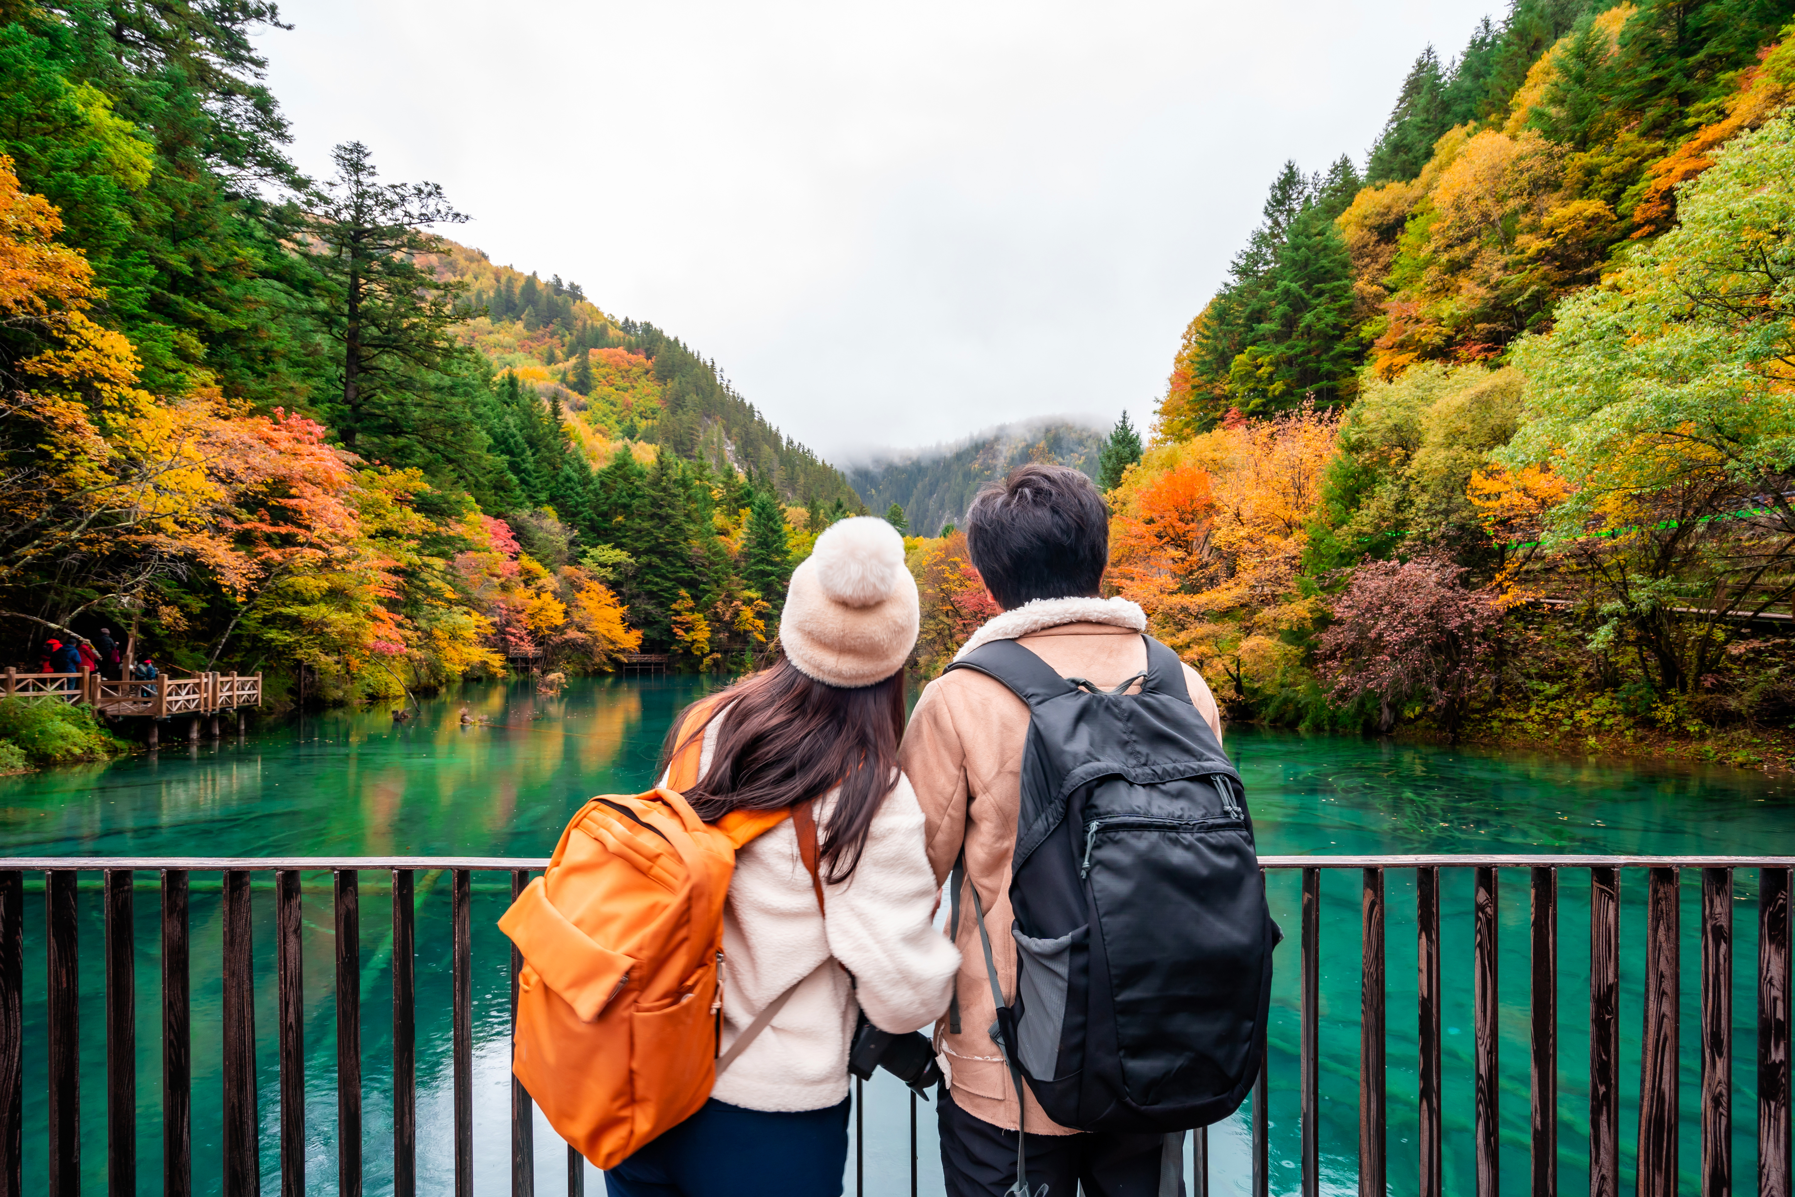
<instances>
[{"instance_id":1,"label":"woman in white fleece and pom-pom beanie, without her backpack","mask_svg":"<svg viewBox=\"0 0 1795 1197\"><path fill-rule=\"evenodd\" d=\"M815 799L817 883L793 818L736 854L723 1057L792 992L704 1109L605 1174L612 1197L838 1197L856 1012L910 1032L948 1009L960 953L933 928L923 811L898 772L915 632L903 538L881 519L842 520L792 574L783 655L668 734L668 759L702 736L684 793L709 822Z\"/></svg>"}]
</instances>

